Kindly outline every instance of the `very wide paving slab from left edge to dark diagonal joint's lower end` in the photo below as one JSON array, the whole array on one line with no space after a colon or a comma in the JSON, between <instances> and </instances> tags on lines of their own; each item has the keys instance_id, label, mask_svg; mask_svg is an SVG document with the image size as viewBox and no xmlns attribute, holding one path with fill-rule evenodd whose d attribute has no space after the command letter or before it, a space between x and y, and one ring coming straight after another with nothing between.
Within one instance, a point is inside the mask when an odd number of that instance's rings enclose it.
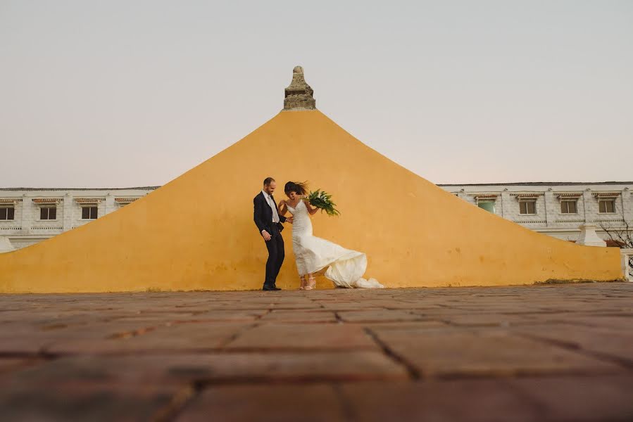
<instances>
[{"instance_id":1,"label":"very wide paving slab from left edge to dark diagonal joint's lower end","mask_svg":"<svg viewBox=\"0 0 633 422\"><path fill-rule=\"evenodd\" d=\"M16 367L5 377L14 384L30 385L186 385L194 381L249 383L407 378L408 372L401 364L381 352L370 351L69 356L20 370Z\"/></svg>"}]
</instances>

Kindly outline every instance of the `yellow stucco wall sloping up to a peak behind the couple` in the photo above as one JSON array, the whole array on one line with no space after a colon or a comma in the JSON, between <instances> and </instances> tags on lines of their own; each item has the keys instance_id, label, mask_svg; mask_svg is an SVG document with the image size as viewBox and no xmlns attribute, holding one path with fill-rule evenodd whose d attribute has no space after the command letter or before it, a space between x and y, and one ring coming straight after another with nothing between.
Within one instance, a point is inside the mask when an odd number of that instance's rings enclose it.
<instances>
[{"instance_id":1,"label":"yellow stucco wall sloping up to a peak behind the couple","mask_svg":"<svg viewBox=\"0 0 633 422\"><path fill-rule=\"evenodd\" d=\"M225 151L94 222L0 254L0 292L261 288L253 196L267 176L332 193L315 236L368 255L387 287L620 279L617 248L579 246L496 217L397 165L312 111L282 112ZM299 286L286 224L277 286ZM320 286L330 282L320 278Z\"/></svg>"}]
</instances>

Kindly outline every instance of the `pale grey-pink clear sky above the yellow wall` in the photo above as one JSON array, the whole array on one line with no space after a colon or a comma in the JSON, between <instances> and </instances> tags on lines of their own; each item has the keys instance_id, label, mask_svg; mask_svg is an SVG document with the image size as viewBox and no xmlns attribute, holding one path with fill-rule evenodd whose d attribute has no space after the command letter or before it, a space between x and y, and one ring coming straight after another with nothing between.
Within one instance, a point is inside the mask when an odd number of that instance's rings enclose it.
<instances>
[{"instance_id":1,"label":"pale grey-pink clear sky above the yellow wall","mask_svg":"<svg viewBox=\"0 0 633 422\"><path fill-rule=\"evenodd\" d=\"M435 183L633 180L631 0L0 0L0 187L165 184L295 65Z\"/></svg>"}]
</instances>

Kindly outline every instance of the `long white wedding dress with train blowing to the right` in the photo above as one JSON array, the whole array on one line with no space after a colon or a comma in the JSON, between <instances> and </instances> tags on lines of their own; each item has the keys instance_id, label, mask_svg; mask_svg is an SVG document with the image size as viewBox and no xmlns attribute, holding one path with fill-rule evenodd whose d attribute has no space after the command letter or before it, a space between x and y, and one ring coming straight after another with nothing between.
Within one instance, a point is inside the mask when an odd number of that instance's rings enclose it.
<instances>
[{"instance_id":1,"label":"long white wedding dress with train blowing to the right","mask_svg":"<svg viewBox=\"0 0 633 422\"><path fill-rule=\"evenodd\" d=\"M296 208L287 205L294 217L292 222L292 250L299 275L313 274L327 267L325 277L337 287L383 288L376 279L363 279L367 269L367 255L342 248L336 243L312 235L308 207L299 201Z\"/></svg>"}]
</instances>

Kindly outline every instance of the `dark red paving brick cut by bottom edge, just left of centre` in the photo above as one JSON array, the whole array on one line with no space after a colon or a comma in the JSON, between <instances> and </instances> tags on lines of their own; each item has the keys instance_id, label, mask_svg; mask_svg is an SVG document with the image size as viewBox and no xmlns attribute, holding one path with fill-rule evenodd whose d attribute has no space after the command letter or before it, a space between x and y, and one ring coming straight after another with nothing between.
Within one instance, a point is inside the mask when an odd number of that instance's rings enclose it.
<instances>
[{"instance_id":1,"label":"dark red paving brick cut by bottom edge, just left of centre","mask_svg":"<svg viewBox=\"0 0 633 422\"><path fill-rule=\"evenodd\" d=\"M346 421L331 385L239 385L204 390L177 417L189 421Z\"/></svg>"}]
</instances>

